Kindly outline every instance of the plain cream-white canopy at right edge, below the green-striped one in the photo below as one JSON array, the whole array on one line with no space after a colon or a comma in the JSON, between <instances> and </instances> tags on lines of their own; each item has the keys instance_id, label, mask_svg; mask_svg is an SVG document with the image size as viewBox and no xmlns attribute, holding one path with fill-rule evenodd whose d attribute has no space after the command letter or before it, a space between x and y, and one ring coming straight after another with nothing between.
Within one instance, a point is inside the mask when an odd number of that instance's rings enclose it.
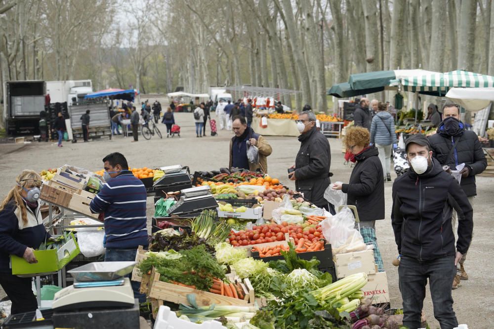
<instances>
[{"instance_id":1,"label":"plain cream-white canopy at right edge, below the green-striped one","mask_svg":"<svg viewBox=\"0 0 494 329\"><path fill-rule=\"evenodd\" d=\"M451 88L446 97L467 110L478 111L494 102L494 88Z\"/></svg>"}]
</instances>

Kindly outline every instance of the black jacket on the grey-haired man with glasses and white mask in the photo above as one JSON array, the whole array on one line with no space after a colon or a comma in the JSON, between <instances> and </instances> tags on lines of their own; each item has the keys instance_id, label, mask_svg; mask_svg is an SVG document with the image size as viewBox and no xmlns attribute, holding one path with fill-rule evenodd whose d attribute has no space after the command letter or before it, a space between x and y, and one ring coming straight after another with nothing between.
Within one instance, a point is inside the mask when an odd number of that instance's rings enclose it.
<instances>
[{"instance_id":1,"label":"black jacket on the grey-haired man with glasses and white mask","mask_svg":"<svg viewBox=\"0 0 494 329\"><path fill-rule=\"evenodd\" d=\"M298 137L300 150L295 159L295 189L318 207L328 205L324 191L329 186L331 151L328 139L313 127Z\"/></svg>"}]
</instances>

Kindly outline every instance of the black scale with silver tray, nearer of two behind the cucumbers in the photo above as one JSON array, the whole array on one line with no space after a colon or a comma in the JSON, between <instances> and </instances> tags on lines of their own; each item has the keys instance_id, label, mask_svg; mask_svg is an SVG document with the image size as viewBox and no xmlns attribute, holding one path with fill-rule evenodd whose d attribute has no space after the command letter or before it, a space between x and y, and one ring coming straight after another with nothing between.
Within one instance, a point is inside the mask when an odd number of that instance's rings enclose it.
<instances>
[{"instance_id":1,"label":"black scale with silver tray, nearer of two behind the cucumbers","mask_svg":"<svg viewBox=\"0 0 494 329\"><path fill-rule=\"evenodd\" d=\"M169 215L188 216L200 214L205 209L218 207L207 185L182 189L180 199L169 210Z\"/></svg>"}]
</instances>

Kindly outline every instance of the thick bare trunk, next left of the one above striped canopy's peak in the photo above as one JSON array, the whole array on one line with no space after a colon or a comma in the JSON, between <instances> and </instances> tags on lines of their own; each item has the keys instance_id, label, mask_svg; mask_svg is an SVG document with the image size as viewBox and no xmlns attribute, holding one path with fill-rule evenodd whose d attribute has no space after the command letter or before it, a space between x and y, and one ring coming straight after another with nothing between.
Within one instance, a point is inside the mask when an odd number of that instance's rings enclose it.
<instances>
[{"instance_id":1,"label":"thick bare trunk, next left of the one above striped canopy's peak","mask_svg":"<svg viewBox=\"0 0 494 329\"><path fill-rule=\"evenodd\" d=\"M432 1L432 17L441 17L444 12L443 1ZM428 69L436 72L443 72L444 67L444 45L445 24L443 20L432 20L432 33L429 52Z\"/></svg>"}]
</instances>

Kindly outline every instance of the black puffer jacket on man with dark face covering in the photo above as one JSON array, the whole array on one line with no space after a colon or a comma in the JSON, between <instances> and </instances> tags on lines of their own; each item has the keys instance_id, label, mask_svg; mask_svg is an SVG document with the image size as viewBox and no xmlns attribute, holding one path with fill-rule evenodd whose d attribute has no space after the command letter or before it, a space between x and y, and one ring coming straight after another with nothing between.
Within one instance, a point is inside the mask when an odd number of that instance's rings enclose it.
<instances>
[{"instance_id":1,"label":"black puffer jacket on man with dark face covering","mask_svg":"<svg viewBox=\"0 0 494 329\"><path fill-rule=\"evenodd\" d=\"M459 139L459 141L458 141ZM458 164L465 163L470 169L468 177L461 178L461 187L467 196L477 195L477 185L475 175L482 173L487 168L487 160L482 150L477 134L473 131L465 130L460 123L460 129L454 136L450 136L444 129L444 122L441 122L437 129L437 134L429 137L432 156L438 159L441 165L448 165L455 169ZM455 150L450 152L453 144Z\"/></svg>"}]
</instances>

